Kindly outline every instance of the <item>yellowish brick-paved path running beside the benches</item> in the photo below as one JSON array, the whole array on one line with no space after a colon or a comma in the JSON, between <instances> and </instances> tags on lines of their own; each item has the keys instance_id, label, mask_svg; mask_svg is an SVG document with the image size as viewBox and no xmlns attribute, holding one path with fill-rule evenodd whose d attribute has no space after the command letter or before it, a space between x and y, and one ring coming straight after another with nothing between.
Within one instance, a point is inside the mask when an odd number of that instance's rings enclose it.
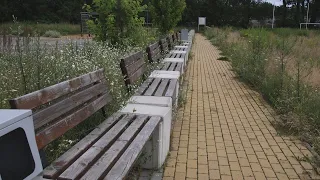
<instances>
[{"instance_id":1,"label":"yellowish brick-paved path running beside the benches","mask_svg":"<svg viewBox=\"0 0 320 180\"><path fill-rule=\"evenodd\" d=\"M277 135L272 108L217 60L216 47L196 34L192 54L164 179L320 179L301 161L310 152Z\"/></svg>"}]
</instances>

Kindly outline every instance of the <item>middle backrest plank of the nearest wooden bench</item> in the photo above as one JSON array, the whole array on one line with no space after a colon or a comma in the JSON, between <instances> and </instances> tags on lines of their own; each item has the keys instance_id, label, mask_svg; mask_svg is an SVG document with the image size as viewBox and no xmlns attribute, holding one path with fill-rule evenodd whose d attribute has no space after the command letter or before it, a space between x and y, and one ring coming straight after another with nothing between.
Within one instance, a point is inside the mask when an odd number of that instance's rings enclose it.
<instances>
[{"instance_id":1,"label":"middle backrest plank of the nearest wooden bench","mask_svg":"<svg viewBox=\"0 0 320 180\"><path fill-rule=\"evenodd\" d=\"M49 107L46 107L39 112L36 112L33 115L33 122L35 129L40 128L41 126L50 123L52 120L64 115L70 110L76 108L77 106L96 98L98 95L107 92L106 81L103 80L102 83L96 84L84 89L83 91L78 92L62 101L59 101L56 104L53 104ZM107 94L108 95L108 94ZM111 98L110 98L111 99ZM109 101L110 102L110 101ZM105 105L109 102L105 102Z\"/></svg>"}]
</instances>

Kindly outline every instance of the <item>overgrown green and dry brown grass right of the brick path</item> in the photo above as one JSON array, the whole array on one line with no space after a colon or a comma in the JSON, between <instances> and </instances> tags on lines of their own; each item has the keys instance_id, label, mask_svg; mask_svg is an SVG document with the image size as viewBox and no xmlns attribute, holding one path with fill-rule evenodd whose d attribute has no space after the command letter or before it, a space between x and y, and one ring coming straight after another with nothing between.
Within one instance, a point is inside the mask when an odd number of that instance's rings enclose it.
<instances>
[{"instance_id":1,"label":"overgrown green and dry brown grass right of the brick path","mask_svg":"<svg viewBox=\"0 0 320 180\"><path fill-rule=\"evenodd\" d=\"M238 76L276 109L281 116L277 125L306 140L320 153L317 32L207 28L204 34L229 58Z\"/></svg>"}]
</instances>

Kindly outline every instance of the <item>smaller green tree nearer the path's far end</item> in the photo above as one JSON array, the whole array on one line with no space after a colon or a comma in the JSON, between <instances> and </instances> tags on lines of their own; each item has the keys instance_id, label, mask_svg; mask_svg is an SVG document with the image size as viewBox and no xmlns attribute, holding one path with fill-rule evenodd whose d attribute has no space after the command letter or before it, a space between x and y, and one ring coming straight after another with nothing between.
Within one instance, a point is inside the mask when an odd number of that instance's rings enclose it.
<instances>
[{"instance_id":1,"label":"smaller green tree nearer the path's far end","mask_svg":"<svg viewBox=\"0 0 320 180\"><path fill-rule=\"evenodd\" d=\"M185 0L151 0L149 8L153 24L162 33L167 33L181 20L185 7Z\"/></svg>"}]
</instances>

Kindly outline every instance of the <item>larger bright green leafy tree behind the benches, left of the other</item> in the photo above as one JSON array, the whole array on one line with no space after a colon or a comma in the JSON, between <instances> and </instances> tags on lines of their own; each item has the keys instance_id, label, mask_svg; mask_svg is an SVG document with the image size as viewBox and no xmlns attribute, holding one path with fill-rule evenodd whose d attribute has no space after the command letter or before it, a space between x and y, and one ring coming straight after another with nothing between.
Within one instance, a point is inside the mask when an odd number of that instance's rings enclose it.
<instances>
[{"instance_id":1,"label":"larger bright green leafy tree behind the benches, left of the other","mask_svg":"<svg viewBox=\"0 0 320 180\"><path fill-rule=\"evenodd\" d=\"M122 44L144 22L139 17L139 13L145 8L141 2L142 0L93 0L91 6L86 5L86 9L97 12L99 17L87 22L91 32L98 40Z\"/></svg>"}]
</instances>

